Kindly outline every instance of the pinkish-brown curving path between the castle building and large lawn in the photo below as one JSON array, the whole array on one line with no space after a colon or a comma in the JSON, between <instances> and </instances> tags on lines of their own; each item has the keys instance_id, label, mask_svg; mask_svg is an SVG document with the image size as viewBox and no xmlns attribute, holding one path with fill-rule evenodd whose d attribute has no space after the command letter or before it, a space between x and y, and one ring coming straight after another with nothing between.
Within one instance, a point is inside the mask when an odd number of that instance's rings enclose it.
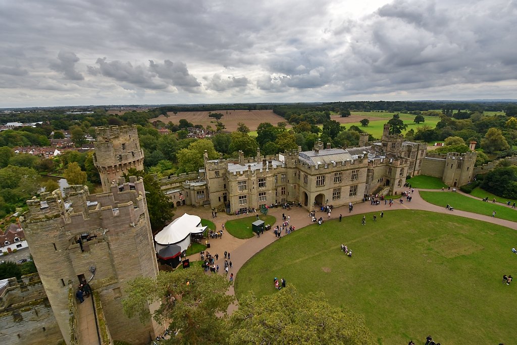
<instances>
[{"instance_id":1,"label":"pinkish-brown curving path between the castle building and large lawn","mask_svg":"<svg viewBox=\"0 0 517 345\"><path fill-rule=\"evenodd\" d=\"M422 191L440 191L439 189L421 189ZM443 193L452 193L452 191L443 191ZM468 197L475 198L470 196L469 194L465 194ZM385 205L382 202L380 205L371 205L370 202L357 203L354 205L354 211L352 213L348 212L348 206L336 207L333 209L330 219L339 218L339 215L342 214L343 217L349 215L357 215L361 213L370 213L370 212L378 212L381 211L389 211L391 209L418 209L422 211L430 211L430 212L438 212L445 214L453 214L459 217L465 217L470 219L478 219L489 223L498 224L501 226L508 227L510 229L517 229L517 222L513 222L510 220L504 220L499 218L494 218L491 216L480 215L476 213L470 213L466 211L454 210L449 211L444 207L439 207L428 203L420 197L419 190L415 188L414 193L412 194L413 198L411 202L407 202L404 200L403 204L399 203L399 200L393 200L393 205L390 207L389 204ZM478 199L478 198L475 198ZM478 199L479 200L479 199ZM222 223L228 220L236 219L239 216L229 216L225 214L218 214L217 218L212 219L211 217L211 209L210 208L197 208L192 209L191 206L180 206L177 209L176 216L181 216L184 213L196 214L202 218L210 219L214 221L217 229L221 229ZM517 211L516 211L517 212ZM296 229L303 228L311 224L309 218L309 212L302 207L293 207L291 209L282 209L282 208L271 208L268 212L268 215L275 216L277 221L275 224L271 224L272 228L274 228L277 224L280 224L282 221L282 214L285 216L290 216L291 221L290 224L293 225ZM252 214L250 214L252 215ZM326 213L317 211L316 217L323 217L325 220L328 219ZM284 235L282 234L282 237ZM232 269L230 269L228 274L228 279L230 279L230 273L234 274L234 280L237 277L237 273L239 272L240 267L244 265L251 257L254 256L255 253L261 251L263 248L268 246L274 241L282 241L282 238L276 238L275 234L272 230L265 231L263 235L260 237L253 237L249 239L238 239L227 233L226 231L223 234L221 239L211 239L210 248L207 249L212 255L216 253L219 254L219 260L216 260L216 265L219 264L219 274L224 275L224 251L228 251L231 254L232 261ZM200 260L201 257L199 254L193 254L187 257L191 261ZM208 273L209 274L209 273ZM230 286L228 294L235 295L233 285ZM231 314L234 310L236 310L237 304L233 304L228 308L228 313Z\"/></svg>"}]
</instances>

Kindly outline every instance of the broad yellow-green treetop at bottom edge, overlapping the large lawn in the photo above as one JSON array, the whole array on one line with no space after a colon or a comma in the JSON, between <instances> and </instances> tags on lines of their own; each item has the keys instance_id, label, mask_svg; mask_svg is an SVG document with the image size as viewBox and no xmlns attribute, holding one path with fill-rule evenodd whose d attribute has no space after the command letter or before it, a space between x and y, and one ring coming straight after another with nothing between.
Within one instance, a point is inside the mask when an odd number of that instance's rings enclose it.
<instances>
[{"instance_id":1,"label":"broad yellow-green treetop at bottom edge, overlapping the large lawn","mask_svg":"<svg viewBox=\"0 0 517 345\"><path fill-rule=\"evenodd\" d=\"M239 298L229 325L230 344L375 344L362 316L294 287Z\"/></svg>"}]
</instances>

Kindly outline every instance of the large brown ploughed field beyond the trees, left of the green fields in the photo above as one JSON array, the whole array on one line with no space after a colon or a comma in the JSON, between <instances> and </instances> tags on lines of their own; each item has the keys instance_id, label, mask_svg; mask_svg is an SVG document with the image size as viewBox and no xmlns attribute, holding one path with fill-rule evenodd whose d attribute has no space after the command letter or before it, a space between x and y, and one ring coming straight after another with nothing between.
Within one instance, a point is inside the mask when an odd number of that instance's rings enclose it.
<instances>
[{"instance_id":1,"label":"large brown ploughed field beyond the trees, left of the green fields","mask_svg":"<svg viewBox=\"0 0 517 345\"><path fill-rule=\"evenodd\" d=\"M251 131L255 131L263 122L267 122L276 126L279 122L286 122L285 118L273 113L272 110L215 110L215 111L181 111L177 114L168 112L169 117L160 115L155 118L149 119L150 122L162 121L163 123L175 123L178 124L179 120L184 118L188 122L194 125L210 125L212 128L216 128L215 118L208 117L209 113L221 113L224 116L221 117L221 122L226 126L226 130L233 132L237 130L238 123L242 122L250 128ZM291 125L287 124L287 128L291 128Z\"/></svg>"}]
</instances>

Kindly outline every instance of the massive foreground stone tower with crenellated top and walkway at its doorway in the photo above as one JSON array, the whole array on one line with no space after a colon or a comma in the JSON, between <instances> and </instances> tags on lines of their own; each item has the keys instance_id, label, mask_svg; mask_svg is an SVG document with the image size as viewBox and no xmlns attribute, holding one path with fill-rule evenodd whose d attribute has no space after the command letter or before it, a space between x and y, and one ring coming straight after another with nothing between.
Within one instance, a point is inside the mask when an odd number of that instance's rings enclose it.
<instances>
[{"instance_id":1,"label":"massive foreground stone tower with crenellated top and walkway at its doorway","mask_svg":"<svg viewBox=\"0 0 517 345\"><path fill-rule=\"evenodd\" d=\"M122 310L128 281L155 278L158 266L143 181L132 176L119 182L110 193L90 195L85 186L70 186L65 196L55 190L27 201L25 236L67 344L73 324L69 290L82 279L91 278L112 339L146 344L162 332L154 320L128 319ZM157 307L149 306L151 313Z\"/></svg>"}]
</instances>

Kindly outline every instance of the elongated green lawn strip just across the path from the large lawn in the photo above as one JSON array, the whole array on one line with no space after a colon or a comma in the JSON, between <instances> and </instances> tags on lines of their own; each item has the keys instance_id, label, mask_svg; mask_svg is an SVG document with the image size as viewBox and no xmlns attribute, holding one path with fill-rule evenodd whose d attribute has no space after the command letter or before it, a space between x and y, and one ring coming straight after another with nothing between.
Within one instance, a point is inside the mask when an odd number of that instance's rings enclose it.
<instances>
[{"instance_id":1,"label":"elongated green lawn strip just across the path from the large lawn","mask_svg":"<svg viewBox=\"0 0 517 345\"><path fill-rule=\"evenodd\" d=\"M453 206L454 209L461 209L461 211L477 213L485 216L492 216L492 212L495 211L496 218L517 221L517 210L514 208L493 204L491 202L483 202L481 200L466 197L460 193L421 191L420 196L425 201L434 205L445 207L449 204Z\"/></svg>"}]
</instances>

